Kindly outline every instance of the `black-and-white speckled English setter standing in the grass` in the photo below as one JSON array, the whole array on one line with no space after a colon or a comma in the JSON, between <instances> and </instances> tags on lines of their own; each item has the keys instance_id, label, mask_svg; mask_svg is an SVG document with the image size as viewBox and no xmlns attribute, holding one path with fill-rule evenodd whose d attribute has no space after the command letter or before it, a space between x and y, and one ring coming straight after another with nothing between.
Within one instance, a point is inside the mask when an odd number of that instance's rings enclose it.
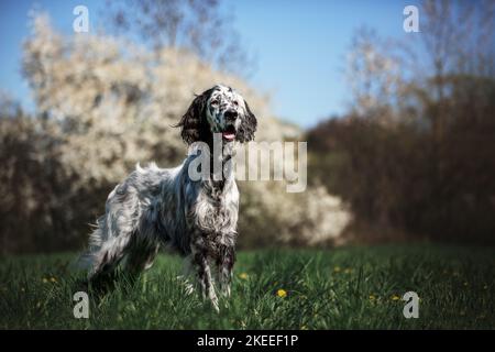
<instances>
[{"instance_id":1,"label":"black-and-white speckled English setter standing in the grass","mask_svg":"<svg viewBox=\"0 0 495 352\"><path fill-rule=\"evenodd\" d=\"M218 85L194 99L177 127L189 146L204 142L212 150L213 135L221 135L220 157L228 162L235 142L254 139L256 118L235 90ZM108 196L105 216L90 235L89 282L108 277L120 262L127 272L138 274L152 265L163 245L188 258L202 297L208 297L218 310L212 277L217 277L221 293L229 296L239 191L232 169L220 179L191 178L189 164L197 157L200 154L189 153L175 168L138 165L117 185ZM213 163L215 153L208 157ZM210 265L216 272L211 273Z\"/></svg>"}]
</instances>

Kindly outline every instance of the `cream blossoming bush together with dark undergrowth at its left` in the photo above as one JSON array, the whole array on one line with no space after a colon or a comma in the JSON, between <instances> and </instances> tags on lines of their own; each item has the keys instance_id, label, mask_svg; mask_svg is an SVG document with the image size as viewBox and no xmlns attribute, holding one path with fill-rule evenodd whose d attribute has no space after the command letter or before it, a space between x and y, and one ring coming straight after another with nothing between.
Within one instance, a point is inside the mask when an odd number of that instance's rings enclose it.
<instances>
[{"instance_id":1,"label":"cream blossoming bush together with dark undergrowth at its left","mask_svg":"<svg viewBox=\"0 0 495 352\"><path fill-rule=\"evenodd\" d=\"M23 69L37 112L25 116L8 98L0 111L3 253L80 249L108 194L136 163L182 162L187 146L172 125L194 94L215 84L235 87L250 102L258 141L300 135L272 117L267 97L188 46L147 48L101 33L62 36L45 14L32 28ZM329 242L349 222L340 199L323 187L287 194L280 182L244 182L241 193L244 246Z\"/></svg>"}]
</instances>

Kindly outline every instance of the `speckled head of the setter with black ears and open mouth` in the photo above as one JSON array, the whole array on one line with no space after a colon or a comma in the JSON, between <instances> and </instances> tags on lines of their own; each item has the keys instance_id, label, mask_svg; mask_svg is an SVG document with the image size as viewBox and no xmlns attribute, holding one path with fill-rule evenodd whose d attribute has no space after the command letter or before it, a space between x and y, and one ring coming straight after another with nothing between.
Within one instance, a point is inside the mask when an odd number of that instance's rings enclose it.
<instances>
[{"instance_id":1,"label":"speckled head of the setter with black ears and open mouth","mask_svg":"<svg viewBox=\"0 0 495 352\"><path fill-rule=\"evenodd\" d=\"M254 139L256 124L244 98L232 88L218 85L193 100L177 127L188 144L209 142L212 133L221 133L226 143L243 143Z\"/></svg>"}]
</instances>

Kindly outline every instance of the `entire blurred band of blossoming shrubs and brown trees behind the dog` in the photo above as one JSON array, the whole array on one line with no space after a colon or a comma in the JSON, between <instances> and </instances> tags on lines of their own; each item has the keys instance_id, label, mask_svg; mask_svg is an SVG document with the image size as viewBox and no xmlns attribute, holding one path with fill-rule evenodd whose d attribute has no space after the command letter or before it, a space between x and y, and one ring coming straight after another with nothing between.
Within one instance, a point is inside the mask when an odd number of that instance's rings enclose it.
<instances>
[{"instance_id":1,"label":"entire blurred band of blossoming shrubs and brown trees behind the dog","mask_svg":"<svg viewBox=\"0 0 495 352\"><path fill-rule=\"evenodd\" d=\"M233 31L213 35L230 21L208 3L128 1L87 35L61 35L46 14L33 16L22 66L35 113L0 97L1 253L81 249L138 162L182 161L172 125L217 82L250 102L257 141L308 141L307 191L240 183L242 246L494 242L493 2L424 1L420 43L356 31L348 111L309 131L274 117L270 96L242 78L249 53Z\"/></svg>"}]
</instances>

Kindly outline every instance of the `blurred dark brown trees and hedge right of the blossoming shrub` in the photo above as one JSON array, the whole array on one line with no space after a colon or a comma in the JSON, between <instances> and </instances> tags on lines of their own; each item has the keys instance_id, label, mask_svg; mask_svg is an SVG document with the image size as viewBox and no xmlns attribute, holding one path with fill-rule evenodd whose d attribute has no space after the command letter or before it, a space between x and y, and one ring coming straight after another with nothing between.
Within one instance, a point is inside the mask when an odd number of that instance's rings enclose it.
<instances>
[{"instance_id":1,"label":"blurred dark brown trees and hedge right of the blossoming shrub","mask_svg":"<svg viewBox=\"0 0 495 352\"><path fill-rule=\"evenodd\" d=\"M420 13L420 43L356 32L349 112L308 132L308 173L352 205L361 241L493 243L494 3Z\"/></svg>"}]
</instances>

